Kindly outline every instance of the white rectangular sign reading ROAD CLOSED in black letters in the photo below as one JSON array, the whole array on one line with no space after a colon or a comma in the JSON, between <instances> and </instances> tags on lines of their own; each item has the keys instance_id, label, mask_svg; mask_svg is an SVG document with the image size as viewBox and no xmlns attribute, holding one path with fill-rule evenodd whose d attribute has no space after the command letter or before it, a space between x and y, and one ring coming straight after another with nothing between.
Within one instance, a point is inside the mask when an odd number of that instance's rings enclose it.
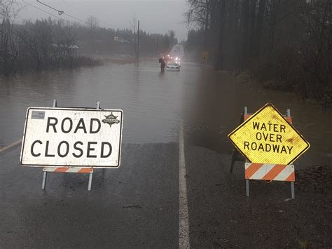
<instances>
[{"instance_id":1,"label":"white rectangular sign reading ROAD CLOSED in black letters","mask_svg":"<svg viewBox=\"0 0 332 249\"><path fill-rule=\"evenodd\" d=\"M30 107L20 163L118 168L122 129L122 110Z\"/></svg>"}]
</instances>

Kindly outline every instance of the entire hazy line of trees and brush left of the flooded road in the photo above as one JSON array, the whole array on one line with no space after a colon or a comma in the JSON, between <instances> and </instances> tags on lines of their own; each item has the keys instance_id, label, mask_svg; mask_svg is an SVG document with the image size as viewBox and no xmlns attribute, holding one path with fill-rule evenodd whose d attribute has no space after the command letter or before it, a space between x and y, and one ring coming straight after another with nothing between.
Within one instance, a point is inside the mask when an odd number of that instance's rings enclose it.
<instances>
[{"instance_id":1,"label":"entire hazy line of trees and brush left of the flooded road","mask_svg":"<svg viewBox=\"0 0 332 249\"><path fill-rule=\"evenodd\" d=\"M99 27L97 19L92 17L85 25L51 18L19 23L19 12L15 0L0 0L0 76L99 65L102 61L95 55L134 57L137 53L135 29L106 29ZM177 43L173 31L149 34L141 30L139 34L142 56L167 53Z\"/></svg>"}]
</instances>

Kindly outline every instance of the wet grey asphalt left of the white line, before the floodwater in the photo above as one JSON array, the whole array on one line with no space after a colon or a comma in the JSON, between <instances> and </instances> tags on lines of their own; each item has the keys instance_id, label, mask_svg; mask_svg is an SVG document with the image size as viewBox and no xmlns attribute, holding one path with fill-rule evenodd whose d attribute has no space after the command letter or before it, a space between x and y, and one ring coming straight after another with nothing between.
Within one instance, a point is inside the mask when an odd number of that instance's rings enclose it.
<instances>
[{"instance_id":1,"label":"wet grey asphalt left of the white line, before the floodwater","mask_svg":"<svg viewBox=\"0 0 332 249\"><path fill-rule=\"evenodd\" d=\"M122 166L88 175L22 168L1 157L1 248L177 248L179 146L127 144ZM15 159L15 160L13 160Z\"/></svg>"}]
</instances>

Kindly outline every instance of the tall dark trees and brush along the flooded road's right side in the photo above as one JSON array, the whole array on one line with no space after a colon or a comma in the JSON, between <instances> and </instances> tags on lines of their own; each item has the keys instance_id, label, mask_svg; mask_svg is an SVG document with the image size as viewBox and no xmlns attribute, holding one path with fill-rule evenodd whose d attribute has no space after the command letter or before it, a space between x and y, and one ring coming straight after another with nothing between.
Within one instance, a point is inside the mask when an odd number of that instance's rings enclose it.
<instances>
[{"instance_id":1,"label":"tall dark trees and brush along the flooded road's right side","mask_svg":"<svg viewBox=\"0 0 332 249\"><path fill-rule=\"evenodd\" d=\"M187 51L268 88L332 102L331 0L187 0Z\"/></svg>"}]
</instances>

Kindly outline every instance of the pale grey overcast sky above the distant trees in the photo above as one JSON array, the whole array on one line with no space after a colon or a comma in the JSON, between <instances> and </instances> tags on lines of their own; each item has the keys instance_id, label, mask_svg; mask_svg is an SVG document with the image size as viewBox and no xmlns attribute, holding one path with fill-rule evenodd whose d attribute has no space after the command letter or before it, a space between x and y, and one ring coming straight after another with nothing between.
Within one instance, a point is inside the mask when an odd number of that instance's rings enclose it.
<instances>
[{"instance_id":1,"label":"pale grey overcast sky above the distant trees","mask_svg":"<svg viewBox=\"0 0 332 249\"><path fill-rule=\"evenodd\" d=\"M20 12L23 19L35 20L48 18L48 13L66 20L74 20L67 15L58 15L47 6L36 0L20 0L25 6ZM39 0L75 18L86 20L89 15L99 20L99 26L113 29L130 29L130 20L135 13L141 29L150 33L165 34L173 29L179 41L186 39L187 27L183 13L186 11L186 0ZM32 4L43 11L29 6ZM51 17L54 18L54 17Z\"/></svg>"}]
</instances>

